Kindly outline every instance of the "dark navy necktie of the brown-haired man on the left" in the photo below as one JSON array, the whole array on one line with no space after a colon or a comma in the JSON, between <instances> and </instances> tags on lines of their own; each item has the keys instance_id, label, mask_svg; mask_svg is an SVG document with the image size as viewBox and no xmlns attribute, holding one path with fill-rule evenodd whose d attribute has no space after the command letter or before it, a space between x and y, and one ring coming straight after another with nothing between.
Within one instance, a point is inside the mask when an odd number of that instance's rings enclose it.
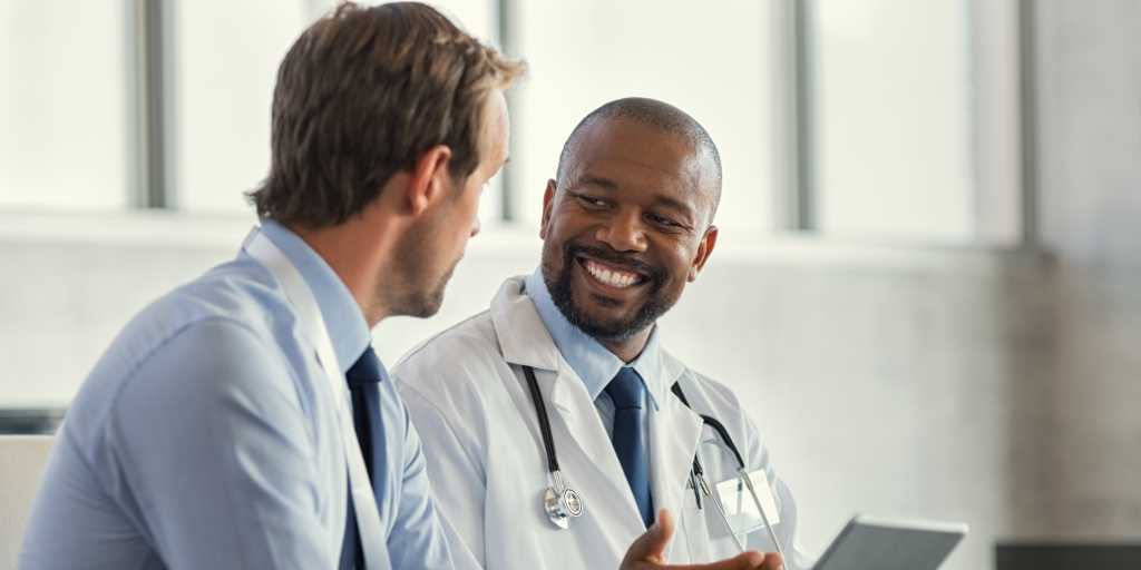
<instances>
[{"instance_id":1,"label":"dark navy necktie of the brown-haired man on the left","mask_svg":"<svg viewBox=\"0 0 1141 570\"><path fill-rule=\"evenodd\" d=\"M383 457L385 427L380 423L380 383L385 380L385 367L377 358L372 347L365 349L361 358L345 373L353 394L353 425L356 427L357 441L361 443L361 455L364 466L369 470L369 481L377 486L375 463ZM356 526L356 510L353 507L353 495L349 494L349 518L345 524L345 542L341 545L341 569L363 569L364 548L361 545L361 532Z\"/></svg>"}]
</instances>

